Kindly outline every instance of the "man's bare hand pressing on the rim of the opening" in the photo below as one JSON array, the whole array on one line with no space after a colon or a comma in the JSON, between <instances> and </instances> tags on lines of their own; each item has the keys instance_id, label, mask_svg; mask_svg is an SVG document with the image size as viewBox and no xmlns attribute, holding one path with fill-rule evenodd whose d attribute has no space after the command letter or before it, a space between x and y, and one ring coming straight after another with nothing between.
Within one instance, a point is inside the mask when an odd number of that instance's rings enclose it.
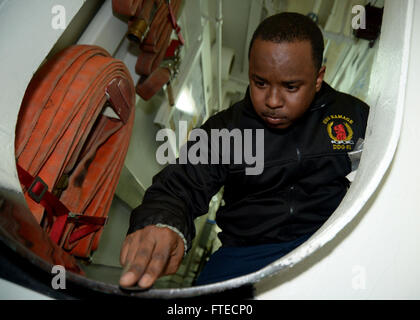
<instances>
[{"instance_id":1,"label":"man's bare hand pressing on the rim of the opening","mask_svg":"<svg viewBox=\"0 0 420 320\"><path fill-rule=\"evenodd\" d=\"M120 285L149 288L161 276L176 273L184 256L184 242L169 228L147 226L129 234L121 248L125 268Z\"/></svg>"}]
</instances>

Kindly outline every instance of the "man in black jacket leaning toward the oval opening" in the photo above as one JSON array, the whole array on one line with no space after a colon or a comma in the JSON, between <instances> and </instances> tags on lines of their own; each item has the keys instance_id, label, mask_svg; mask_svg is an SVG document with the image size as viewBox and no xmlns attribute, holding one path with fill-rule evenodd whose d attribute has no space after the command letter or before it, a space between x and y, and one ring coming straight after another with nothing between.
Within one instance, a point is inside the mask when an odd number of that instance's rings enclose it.
<instances>
[{"instance_id":1,"label":"man in black jacket leaning toward the oval opening","mask_svg":"<svg viewBox=\"0 0 420 320\"><path fill-rule=\"evenodd\" d=\"M365 135L368 106L323 81L324 42L317 25L296 13L265 19L249 51L245 98L202 126L264 130L264 170L244 164L172 164L153 179L130 219L121 250L121 286L150 287L175 273L224 185L216 221L222 247L198 278L207 284L257 271L308 239L344 197L347 152Z\"/></svg>"}]
</instances>

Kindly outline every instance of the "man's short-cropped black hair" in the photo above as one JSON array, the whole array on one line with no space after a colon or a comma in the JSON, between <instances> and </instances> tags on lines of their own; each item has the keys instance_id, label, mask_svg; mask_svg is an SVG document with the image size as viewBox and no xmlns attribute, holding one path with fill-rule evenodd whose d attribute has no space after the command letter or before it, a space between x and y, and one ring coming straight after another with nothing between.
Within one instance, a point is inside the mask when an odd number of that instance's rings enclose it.
<instances>
[{"instance_id":1,"label":"man's short-cropped black hair","mask_svg":"<svg viewBox=\"0 0 420 320\"><path fill-rule=\"evenodd\" d=\"M295 12L282 12L264 19L252 36L248 58L255 39L281 42L309 41L315 68L321 69L324 55L324 37L321 29L309 17Z\"/></svg>"}]
</instances>

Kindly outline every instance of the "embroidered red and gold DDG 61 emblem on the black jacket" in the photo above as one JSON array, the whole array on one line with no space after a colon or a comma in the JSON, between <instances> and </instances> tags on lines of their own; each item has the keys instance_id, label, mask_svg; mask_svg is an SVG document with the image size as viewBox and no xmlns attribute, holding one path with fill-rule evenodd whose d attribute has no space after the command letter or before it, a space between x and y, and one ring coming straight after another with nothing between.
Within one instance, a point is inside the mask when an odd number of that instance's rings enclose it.
<instances>
[{"instance_id":1,"label":"embroidered red and gold DDG 61 emblem on the black jacket","mask_svg":"<svg viewBox=\"0 0 420 320\"><path fill-rule=\"evenodd\" d=\"M328 136L331 138L333 150L353 149L353 129L351 127L353 122L352 119L341 114L330 115L322 121L326 125Z\"/></svg>"}]
</instances>

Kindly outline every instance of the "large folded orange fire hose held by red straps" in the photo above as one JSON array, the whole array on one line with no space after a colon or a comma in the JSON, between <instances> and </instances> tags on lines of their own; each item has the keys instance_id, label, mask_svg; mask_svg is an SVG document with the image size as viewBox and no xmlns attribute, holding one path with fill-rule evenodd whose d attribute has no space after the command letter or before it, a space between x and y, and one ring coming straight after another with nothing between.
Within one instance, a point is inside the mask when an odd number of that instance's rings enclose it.
<instances>
[{"instance_id":1,"label":"large folded orange fire hose held by red straps","mask_svg":"<svg viewBox=\"0 0 420 320\"><path fill-rule=\"evenodd\" d=\"M25 92L15 139L19 179L37 221L74 256L89 257L98 246L134 104L125 65L89 45L47 61Z\"/></svg>"}]
</instances>

